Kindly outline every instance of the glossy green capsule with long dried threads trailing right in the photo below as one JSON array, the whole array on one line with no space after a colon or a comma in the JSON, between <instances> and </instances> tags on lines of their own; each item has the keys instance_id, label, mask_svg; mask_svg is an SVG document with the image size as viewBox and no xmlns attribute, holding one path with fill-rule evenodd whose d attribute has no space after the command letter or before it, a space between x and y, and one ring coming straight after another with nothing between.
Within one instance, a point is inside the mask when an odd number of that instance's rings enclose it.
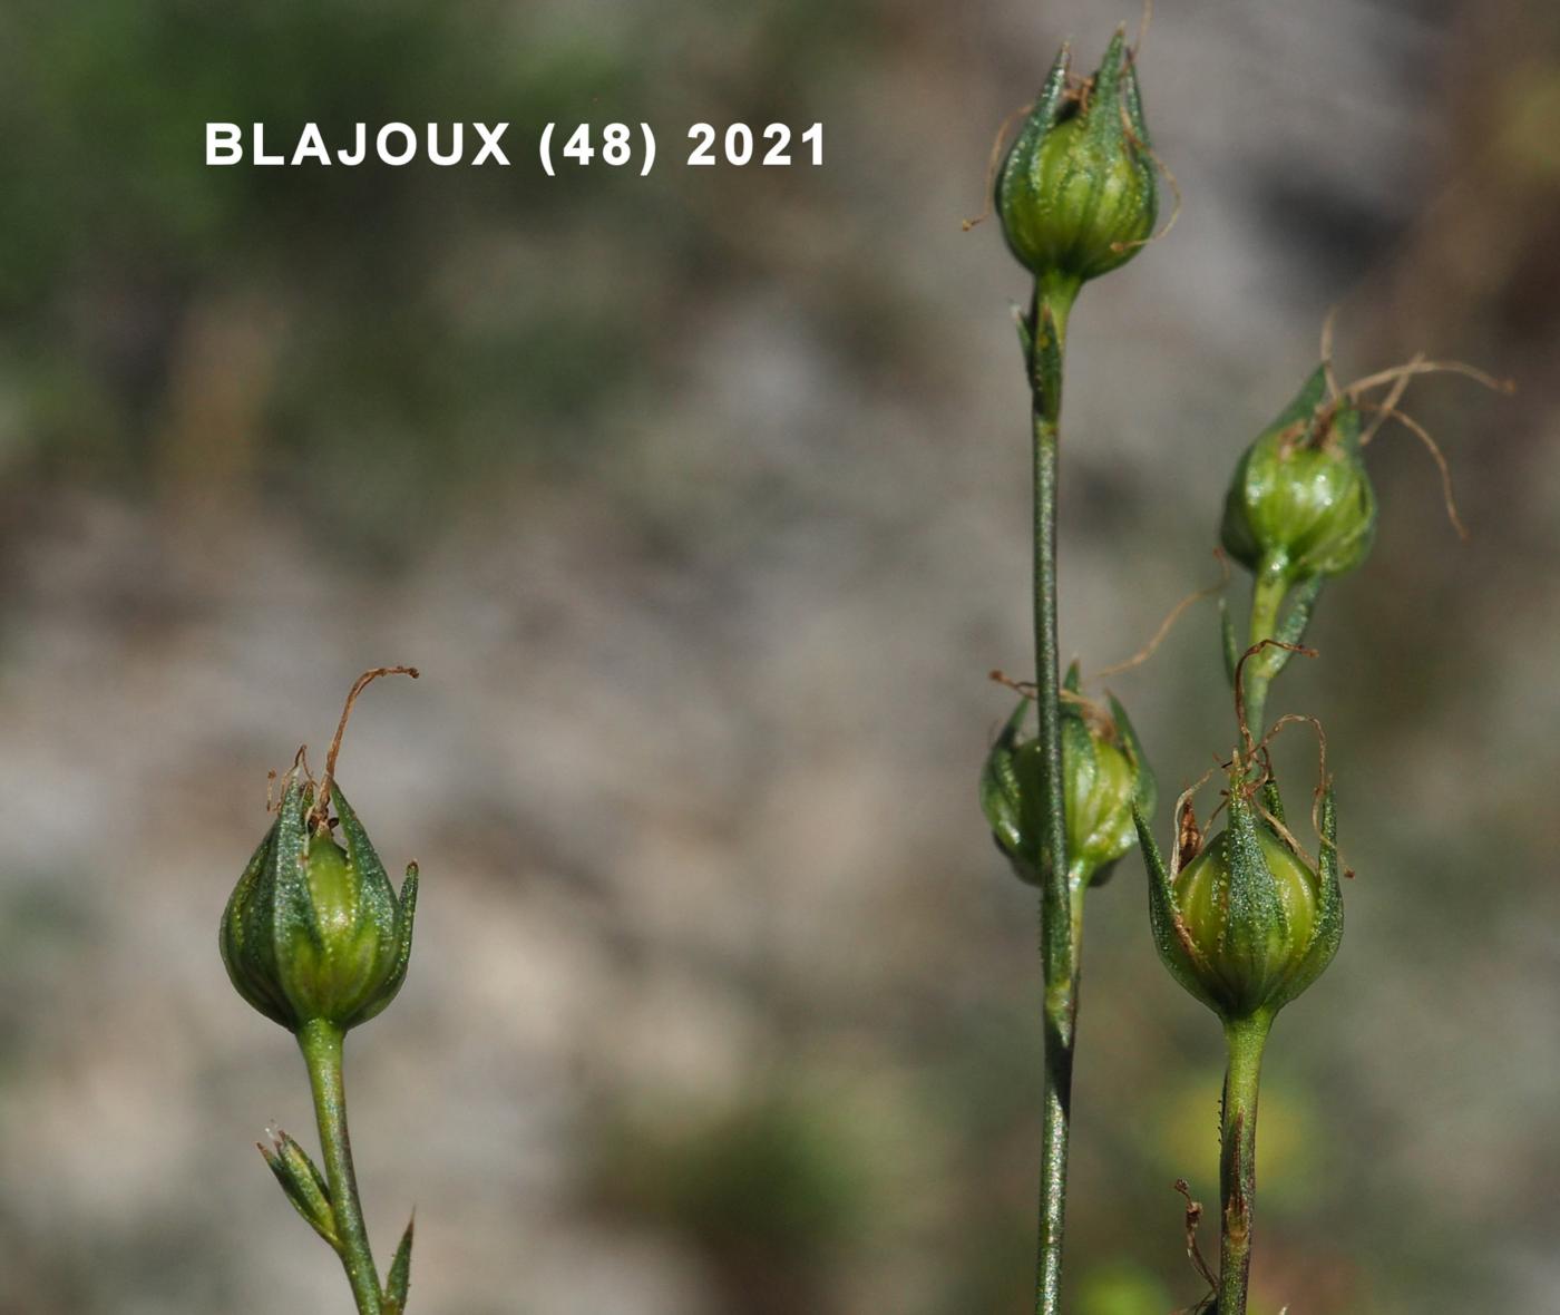
<instances>
[{"instance_id":1,"label":"glossy green capsule with long dried threads trailing right","mask_svg":"<svg viewBox=\"0 0 1560 1315\"><path fill-rule=\"evenodd\" d=\"M1318 367L1240 457L1225 496L1225 551L1285 585L1359 566L1376 538L1376 491L1359 440L1359 409L1346 396L1328 399Z\"/></svg>"}]
</instances>

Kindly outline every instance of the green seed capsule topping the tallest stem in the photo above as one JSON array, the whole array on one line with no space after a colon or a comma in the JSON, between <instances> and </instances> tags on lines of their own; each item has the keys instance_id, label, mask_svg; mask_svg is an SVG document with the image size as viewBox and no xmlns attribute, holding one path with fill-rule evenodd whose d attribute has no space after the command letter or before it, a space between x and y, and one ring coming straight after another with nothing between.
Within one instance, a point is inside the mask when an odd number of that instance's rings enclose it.
<instances>
[{"instance_id":1,"label":"green seed capsule topping the tallest stem","mask_svg":"<svg viewBox=\"0 0 1560 1315\"><path fill-rule=\"evenodd\" d=\"M997 175L1008 246L1073 290L1125 265L1159 211L1137 69L1117 31L1094 76L1069 87L1062 47Z\"/></svg>"}]
</instances>

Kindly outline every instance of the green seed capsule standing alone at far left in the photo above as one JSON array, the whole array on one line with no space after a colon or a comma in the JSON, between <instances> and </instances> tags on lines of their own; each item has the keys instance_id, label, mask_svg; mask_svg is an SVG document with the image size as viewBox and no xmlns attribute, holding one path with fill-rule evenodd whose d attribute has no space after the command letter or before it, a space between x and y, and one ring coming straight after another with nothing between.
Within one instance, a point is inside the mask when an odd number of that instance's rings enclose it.
<instances>
[{"instance_id":1,"label":"green seed capsule standing alone at far left","mask_svg":"<svg viewBox=\"0 0 1560 1315\"><path fill-rule=\"evenodd\" d=\"M314 785L290 780L276 821L228 900L218 942L239 994L289 1031L367 1022L406 980L417 866L401 894L340 789L339 842L314 810Z\"/></svg>"}]
</instances>

